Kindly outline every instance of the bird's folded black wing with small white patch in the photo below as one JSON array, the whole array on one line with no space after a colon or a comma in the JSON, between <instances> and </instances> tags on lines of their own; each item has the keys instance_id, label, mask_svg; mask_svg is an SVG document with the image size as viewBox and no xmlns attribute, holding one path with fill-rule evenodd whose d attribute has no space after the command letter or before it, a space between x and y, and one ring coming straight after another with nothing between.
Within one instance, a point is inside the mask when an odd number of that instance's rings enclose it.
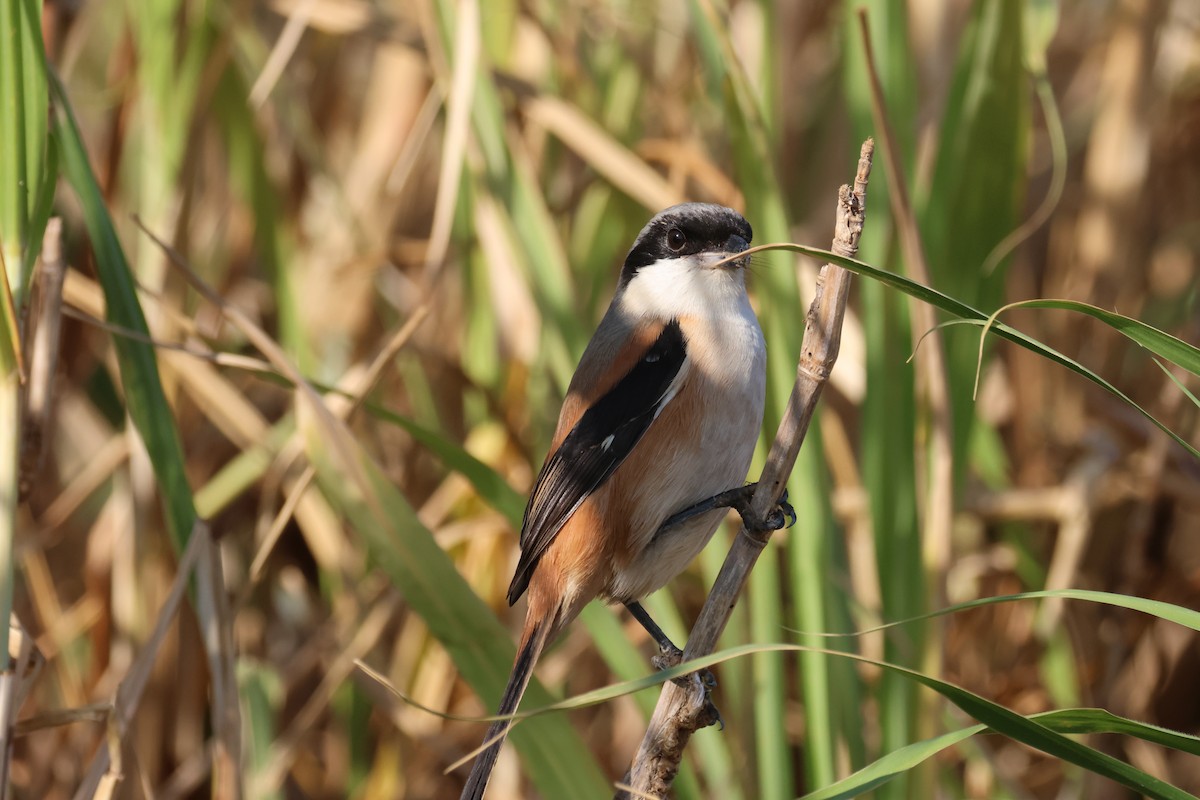
<instances>
[{"instance_id":1,"label":"bird's folded black wing with small white patch","mask_svg":"<svg viewBox=\"0 0 1200 800\"><path fill-rule=\"evenodd\" d=\"M509 585L510 606L524 594L538 560L566 521L625 461L671 401L672 381L686 357L683 330L672 320L546 459L521 525L521 559Z\"/></svg>"}]
</instances>

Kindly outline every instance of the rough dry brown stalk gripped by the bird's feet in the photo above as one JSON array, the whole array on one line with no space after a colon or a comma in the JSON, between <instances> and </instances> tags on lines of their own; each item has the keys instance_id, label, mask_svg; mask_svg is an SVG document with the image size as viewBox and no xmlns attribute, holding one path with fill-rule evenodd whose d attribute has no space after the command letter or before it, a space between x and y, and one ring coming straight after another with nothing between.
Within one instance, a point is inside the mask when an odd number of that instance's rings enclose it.
<instances>
[{"instance_id":1,"label":"rough dry brown stalk gripped by the bird's feet","mask_svg":"<svg viewBox=\"0 0 1200 800\"><path fill-rule=\"evenodd\" d=\"M866 216L866 181L871 173L874 152L875 142L868 139L859 154L853 190L842 186L838 194L838 222L830 249L846 258L853 258L858 252L858 241ZM733 604L742 594L750 570L770 539L770 531L763 530L757 523L767 518L782 495L796 465L800 444L816 411L817 401L838 360L841 323L850 297L850 282L851 273L846 270L833 264L821 267L816 296L809 307L804 327L796 384L792 386L784 419L767 455L767 465L758 479L758 488L750 501L749 517L756 530L743 524L688 637L684 661L708 655L716 646L716 639L733 613ZM708 690L698 675L691 675L684 685L665 684L646 736L624 781L626 788L618 790L616 796L619 799L665 796L679 771L683 750L691 734L713 722L715 718L712 704L708 702Z\"/></svg>"}]
</instances>

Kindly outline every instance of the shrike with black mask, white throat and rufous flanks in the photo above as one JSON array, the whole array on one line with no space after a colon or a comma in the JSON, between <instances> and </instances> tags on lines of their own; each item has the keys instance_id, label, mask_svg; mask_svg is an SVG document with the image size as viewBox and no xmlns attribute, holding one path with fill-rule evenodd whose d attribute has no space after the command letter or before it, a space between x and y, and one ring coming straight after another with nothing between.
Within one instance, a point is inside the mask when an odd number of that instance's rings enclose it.
<instances>
[{"instance_id":1,"label":"shrike with black mask, white throat and rufous flanks","mask_svg":"<svg viewBox=\"0 0 1200 800\"><path fill-rule=\"evenodd\" d=\"M498 716L516 711L545 646L593 599L625 604L678 655L638 601L703 549L725 516L706 501L743 487L750 468L767 360L742 255L752 236L732 209L684 203L625 257L526 506L508 601L528 594L528 608ZM462 800L484 796L510 724L488 728Z\"/></svg>"}]
</instances>

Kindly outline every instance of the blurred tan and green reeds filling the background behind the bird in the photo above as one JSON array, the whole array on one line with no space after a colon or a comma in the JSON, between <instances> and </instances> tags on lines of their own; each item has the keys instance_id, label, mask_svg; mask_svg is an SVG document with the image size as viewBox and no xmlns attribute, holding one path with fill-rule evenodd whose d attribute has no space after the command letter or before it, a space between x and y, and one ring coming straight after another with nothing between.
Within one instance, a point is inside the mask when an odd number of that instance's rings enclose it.
<instances>
[{"instance_id":1,"label":"blurred tan and green reeds filling the background behind the bird","mask_svg":"<svg viewBox=\"0 0 1200 800\"><path fill-rule=\"evenodd\" d=\"M756 243L828 246L836 187L877 133L858 7L929 258L918 279L984 312L1063 297L1200 337L1193 0L7 0L0 235L32 311L13 348L5 308L0 341L0 600L44 660L7 690L12 795L457 796L466 770L443 770L484 726L400 702L353 658L436 711L491 710L523 614L504 590L524 494L625 249L682 199L743 210ZM882 157L860 257L905 272ZM754 263L764 435L814 276L785 252ZM16 353L37 385L30 342L59 319L18 477ZM1196 459L1007 342L984 349L973 399L978 329L940 330L930 371L930 341L907 361L923 319L856 278L790 487L799 523L724 645L841 648L1021 715L1096 706L1195 734ZM1194 368L1160 369L1081 314L1003 320L1200 443ZM648 602L677 642L731 531ZM1067 588L1177 614L1031 599L817 636ZM593 606L526 708L642 678L650 650ZM726 728L692 740L683 799L802 795L972 722L907 676L811 650L718 675ZM521 724L490 796L610 796L655 698ZM1194 739L1086 741L1200 792ZM926 756L866 788L1136 794L1003 736Z\"/></svg>"}]
</instances>

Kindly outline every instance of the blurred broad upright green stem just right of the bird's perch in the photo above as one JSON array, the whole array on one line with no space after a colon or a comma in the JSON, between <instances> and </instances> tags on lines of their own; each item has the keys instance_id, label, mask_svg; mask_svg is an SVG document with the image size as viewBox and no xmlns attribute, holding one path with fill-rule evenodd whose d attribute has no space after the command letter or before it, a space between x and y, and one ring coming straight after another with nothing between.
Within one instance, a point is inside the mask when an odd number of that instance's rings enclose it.
<instances>
[{"instance_id":1,"label":"blurred broad upright green stem just right of the bird's perch","mask_svg":"<svg viewBox=\"0 0 1200 800\"><path fill-rule=\"evenodd\" d=\"M905 0L844 0L845 92L857 136L875 133L866 59L862 38L853 24L854 10L870 10L872 44L881 65L881 78L890 103L892 120L902 137L904 152L914 150L917 131L917 55L911 48L910 4ZM910 162L911 163L911 158ZM875 206L888 205L894 188L887 172L880 170L871 188ZM894 263L894 223L890 215L875 216L876 235L863 242L863 259ZM925 582L922 571L920 535L917 518L916 386L912 369L904 362L912 351L908 336L908 308L905 300L874 281L860 285L865 333L866 392L860 422L860 458L864 489L870 511L874 541L874 573L878 584L877 610L883 619L908 619L924 610ZM883 658L908 667L918 666L924 639L920 626L893 628L883 637ZM918 687L908 680L884 673L872 682L870 697L878 709L878 738L859 736L872 753L892 752L913 741ZM856 766L862 766L857 764ZM910 776L904 774L875 792L880 800L901 800L910 793Z\"/></svg>"}]
</instances>

